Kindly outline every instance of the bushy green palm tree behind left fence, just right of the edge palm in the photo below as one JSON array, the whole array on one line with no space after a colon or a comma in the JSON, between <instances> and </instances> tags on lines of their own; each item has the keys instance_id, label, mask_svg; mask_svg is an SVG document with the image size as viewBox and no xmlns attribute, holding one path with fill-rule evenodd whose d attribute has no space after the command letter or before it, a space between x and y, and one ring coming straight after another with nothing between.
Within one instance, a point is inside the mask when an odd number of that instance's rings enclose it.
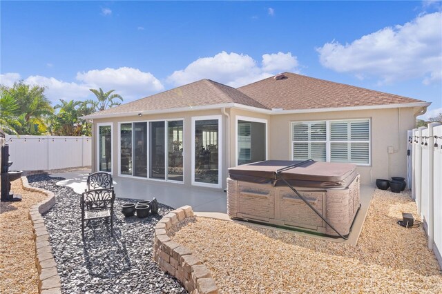
<instances>
[{"instance_id":1,"label":"bushy green palm tree behind left fence, just right of the edge palm","mask_svg":"<svg viewBox=\"0 0 442 294\"><path fill-rule=\"evenodd\" d=\"M19 135L41 135L47 132L46 119L53 114L50 101L44 95L42 86L30 86L23 81L6 88L19 106L21 130Z\"/></svg>"}]
</instances>

